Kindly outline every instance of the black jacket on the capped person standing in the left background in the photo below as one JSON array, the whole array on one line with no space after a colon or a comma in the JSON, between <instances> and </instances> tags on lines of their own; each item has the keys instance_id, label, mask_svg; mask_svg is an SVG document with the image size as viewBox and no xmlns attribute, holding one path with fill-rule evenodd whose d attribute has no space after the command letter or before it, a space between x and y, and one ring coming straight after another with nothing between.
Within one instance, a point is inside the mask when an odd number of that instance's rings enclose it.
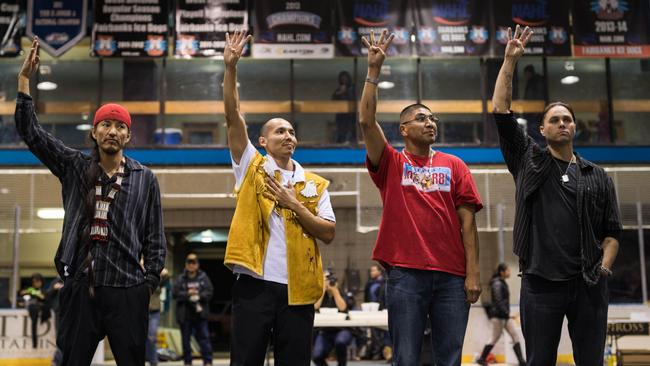
<instances>
[{"instance_id":1,"label":"black jacket on the capped person standing in the left background","mask_svg":"<svg viewBox=\"0 0 650 366\"><path fill-rule=\"evenodd\" d=\"M196 275L196 281L199 282L198 304L201 306L200 317L207 319L210 314L209 304L212 298L212 281L201 270ZM187 293L188 282L190 282L190 278L187 276L187 271L183 271L174 281L174 287L172 288L172 298L176 300L176 321L178 323L185 322L187 312L195 307L195 303L190 301L190 295Z\"/></svg>"}]
</instances>

